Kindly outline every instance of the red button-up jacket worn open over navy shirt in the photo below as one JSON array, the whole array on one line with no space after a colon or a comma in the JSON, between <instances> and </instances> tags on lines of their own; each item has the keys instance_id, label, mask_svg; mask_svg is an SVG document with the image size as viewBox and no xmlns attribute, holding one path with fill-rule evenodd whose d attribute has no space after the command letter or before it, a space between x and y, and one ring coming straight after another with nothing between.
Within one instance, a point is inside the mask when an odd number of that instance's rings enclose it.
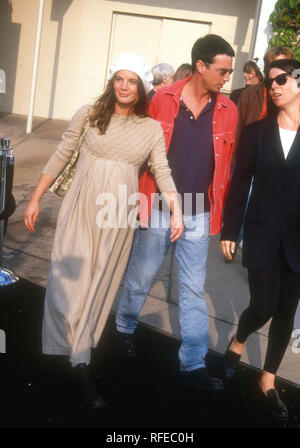
<instances>
[{"instance_id":1,"label":"red button-up jacket worn open over navy shirt","mask_svg":"<svg viewBox=\"0 0 300 448\"><path fill-rule=\"evenodd\" d=\"M171 86L160 89L153 97L149 114L161 123L168 152L174 120L178 115L181 91L191 77L177 81ZM224 95L217 95L213 114L213 142L215 155L215 169L208 195L210 200L210 234L219 233L222 225L222 211L224 200L230 181L230 160L234 146L235 128L237 123L237 107ZM141 213L141 225L147 226L146 216L150 216L152 200L151 194L156 192L156 183L149 170L140 177L139 190L148 199L148 214ZM143 219L144 217L144 219Z\"/></svg>"}]
</instances>

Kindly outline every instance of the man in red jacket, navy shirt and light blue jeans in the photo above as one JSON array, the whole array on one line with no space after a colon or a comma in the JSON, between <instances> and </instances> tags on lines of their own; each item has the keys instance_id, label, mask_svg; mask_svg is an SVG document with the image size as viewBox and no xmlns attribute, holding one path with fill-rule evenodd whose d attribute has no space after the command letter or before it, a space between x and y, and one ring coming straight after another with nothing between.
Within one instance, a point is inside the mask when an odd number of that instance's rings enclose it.
<instances>
[{"instance_id":1,"label":"man in red jacket, navy shirt and light blue jeans","mask_svg":"<svg viewBox=\"0 0 300 448\"><path fill-rule=\"evenodd\" d=\"M203 289L209 236L220 232L230 180L237 109L220 89L230 79L234 55L220 36L198 39L192 48L192 76L160 89L149 109L162 125L169 165L183 203L185 231L175 243L179 384L206 390L223 388L222 381L206 370L209 325ZM119 348L128 356L135 353L133 333L138 316L171 245L170 217L154 200L156 185L149 171L140 178L140 192L148 201L141 201L141 226L135 232L117 313ZM148 210L143 210L145 202Z\"/></svg>"}]
</instances>

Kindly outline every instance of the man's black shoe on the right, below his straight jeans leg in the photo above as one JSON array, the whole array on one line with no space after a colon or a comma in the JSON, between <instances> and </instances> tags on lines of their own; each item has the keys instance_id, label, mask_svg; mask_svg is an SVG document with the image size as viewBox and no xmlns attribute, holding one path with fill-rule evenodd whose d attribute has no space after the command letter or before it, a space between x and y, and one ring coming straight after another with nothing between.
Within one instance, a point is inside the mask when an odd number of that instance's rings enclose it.
<instances>
[{"instance_id":1,"label":"man's black shoe on the right, below his straight jeans leg","mask_svg":"<svg viewBox=\"0 0 300 448\"><path fill-rule=\"evenodd\" d=\"M178 385L206 391L224 390L223 381L208 376L206 369L200 368L189 372L179 372Z\"/></svg>"}]
</instances>

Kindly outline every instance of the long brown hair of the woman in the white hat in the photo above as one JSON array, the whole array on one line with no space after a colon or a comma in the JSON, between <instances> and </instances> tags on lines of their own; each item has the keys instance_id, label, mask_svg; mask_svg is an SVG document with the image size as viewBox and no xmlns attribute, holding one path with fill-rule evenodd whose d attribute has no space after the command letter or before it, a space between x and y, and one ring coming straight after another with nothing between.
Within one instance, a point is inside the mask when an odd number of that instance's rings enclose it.
<instances>
[{"instance_id":1,"label":"long brown hair of the woman in the white hat","mask_svg":"<svg viewBox=\"0 0 300 448\"><path fill-rule=\"evenodd\" d=\"M105 92L96 100L89 114L89 121L92 127L97 127L100 134L105 134L111 117L115 111L115 76L108 81ZM142 80L138 77L138 100L131 105L129 115L135 114L139 117L148 117L148 97Z\"/></svg>"}]
</instances>

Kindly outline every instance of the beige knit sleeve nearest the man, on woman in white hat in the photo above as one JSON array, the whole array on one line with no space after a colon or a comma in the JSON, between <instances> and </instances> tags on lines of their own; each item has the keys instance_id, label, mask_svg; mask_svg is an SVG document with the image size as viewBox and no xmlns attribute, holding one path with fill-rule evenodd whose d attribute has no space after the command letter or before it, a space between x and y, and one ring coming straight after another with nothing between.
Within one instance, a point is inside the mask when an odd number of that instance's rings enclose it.
<instances>
[{"instance_id":1,"label":"beige knit sleeve nearest the man, on woman in white hat","mask_svg":"<svg viewBox=\"0 0 300 448\"><path fill-rule=\"evenodd\" d=\"M177 191L169 168L165 137L159 122L151 120L153 125L153 145L148 158L148 166L161 193Z\"/></svg>"}]
</instances>

